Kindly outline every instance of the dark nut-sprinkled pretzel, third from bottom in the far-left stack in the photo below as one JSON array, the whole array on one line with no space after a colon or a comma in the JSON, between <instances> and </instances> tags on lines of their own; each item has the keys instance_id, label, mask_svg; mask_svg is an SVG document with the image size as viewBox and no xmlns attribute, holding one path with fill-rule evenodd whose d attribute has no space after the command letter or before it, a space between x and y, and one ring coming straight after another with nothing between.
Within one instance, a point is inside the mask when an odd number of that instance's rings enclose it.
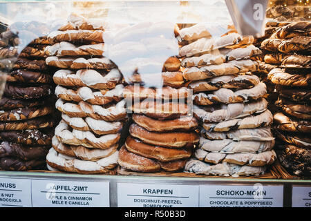
<instances>
[{"instance_id":1,"label":"dark nut-sprinkled pretzel, third from bottom in the far-left stack","mask_svg":"<svg viewBox=\"0 0 311 221\"><path fill-rule=\"evenodd\" d=\"M0 140L26 145L50 145L53 131L39 131L38 129L24 131L0 131Z\"/></svg>"}]
</instances>

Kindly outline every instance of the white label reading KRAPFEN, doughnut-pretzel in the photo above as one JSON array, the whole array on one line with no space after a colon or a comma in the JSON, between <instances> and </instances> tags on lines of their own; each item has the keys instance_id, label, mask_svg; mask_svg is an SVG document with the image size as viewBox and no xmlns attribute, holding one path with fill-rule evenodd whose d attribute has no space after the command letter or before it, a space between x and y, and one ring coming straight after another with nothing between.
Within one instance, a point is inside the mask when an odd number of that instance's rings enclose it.
<instances>
[{"instance_id":1,"label":"white label reading KRAPFEN, doughnut-pretzel","mask_svg":"<svg viewBox=\"0 0 311 221\"><path fill-rule=\"evenodd\" d=\"M198 186L117 184L119 207L198 207Z\"/></svg>"}]
</instances>

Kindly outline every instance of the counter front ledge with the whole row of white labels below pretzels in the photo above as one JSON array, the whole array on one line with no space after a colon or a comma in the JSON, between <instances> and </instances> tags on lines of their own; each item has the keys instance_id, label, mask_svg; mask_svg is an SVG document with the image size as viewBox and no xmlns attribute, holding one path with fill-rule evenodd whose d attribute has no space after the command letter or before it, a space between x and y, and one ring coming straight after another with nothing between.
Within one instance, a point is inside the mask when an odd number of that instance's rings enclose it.
<instances>
[{"instance_id":1,"label":"counter front ledge with the whole row of white labels below pretzels","mask_svg":"<svg viewBox=\"0 0 311 221\"><path fill-rule=\"evenodd\" d=\"M311 180L177 175L0 171L0 206L310 206Z\"/></svg>"}]
</instances>

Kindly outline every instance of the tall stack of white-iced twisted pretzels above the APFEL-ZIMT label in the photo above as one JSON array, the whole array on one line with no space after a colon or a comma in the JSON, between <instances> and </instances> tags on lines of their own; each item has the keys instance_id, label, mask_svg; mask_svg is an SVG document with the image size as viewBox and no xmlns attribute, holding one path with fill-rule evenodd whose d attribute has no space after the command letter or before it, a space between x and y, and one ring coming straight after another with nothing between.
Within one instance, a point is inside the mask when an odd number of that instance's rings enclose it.
<instances>
[{"instance_id":1,"label":"tall stack of white-iced twisted pretzels above the APFEL-ZIMT label","mask_svg":"<svg viewBox=\"0 0 311 221\"><path fill-rule=\"evenodd\" d=\"M48 169L72 173L110 173L117 166L121 130L126 119L122 77L104 54L106 23L70 15L50 32L46 64L58 68L55 128L46 157Z\"/></svg>"}]
</instances>

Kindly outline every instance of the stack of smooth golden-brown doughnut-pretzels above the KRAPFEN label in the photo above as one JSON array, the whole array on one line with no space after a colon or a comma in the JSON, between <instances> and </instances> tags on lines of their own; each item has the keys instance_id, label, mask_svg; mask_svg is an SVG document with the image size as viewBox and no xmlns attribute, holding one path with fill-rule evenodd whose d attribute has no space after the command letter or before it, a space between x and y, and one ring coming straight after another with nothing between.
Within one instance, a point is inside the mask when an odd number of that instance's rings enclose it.
<instances>
[{"instance_id":1,"label":"stack of smooth golden-brown doughnut-pretzels above the KRAPFEN label","mask_svg":"<svg viewBox=\"0 0 311 221\"><path fill-rule=\"evenodd\" d=\"M176 57L177 35L178 28L165 22L138 23L115 35L111 55L128 84L124 97L133 114L119 153L123 169L182 171L198 142L198 123L188 116L189 93ZM125 45L133 48L131 53Z\"/></svg>"}]
</instances>

